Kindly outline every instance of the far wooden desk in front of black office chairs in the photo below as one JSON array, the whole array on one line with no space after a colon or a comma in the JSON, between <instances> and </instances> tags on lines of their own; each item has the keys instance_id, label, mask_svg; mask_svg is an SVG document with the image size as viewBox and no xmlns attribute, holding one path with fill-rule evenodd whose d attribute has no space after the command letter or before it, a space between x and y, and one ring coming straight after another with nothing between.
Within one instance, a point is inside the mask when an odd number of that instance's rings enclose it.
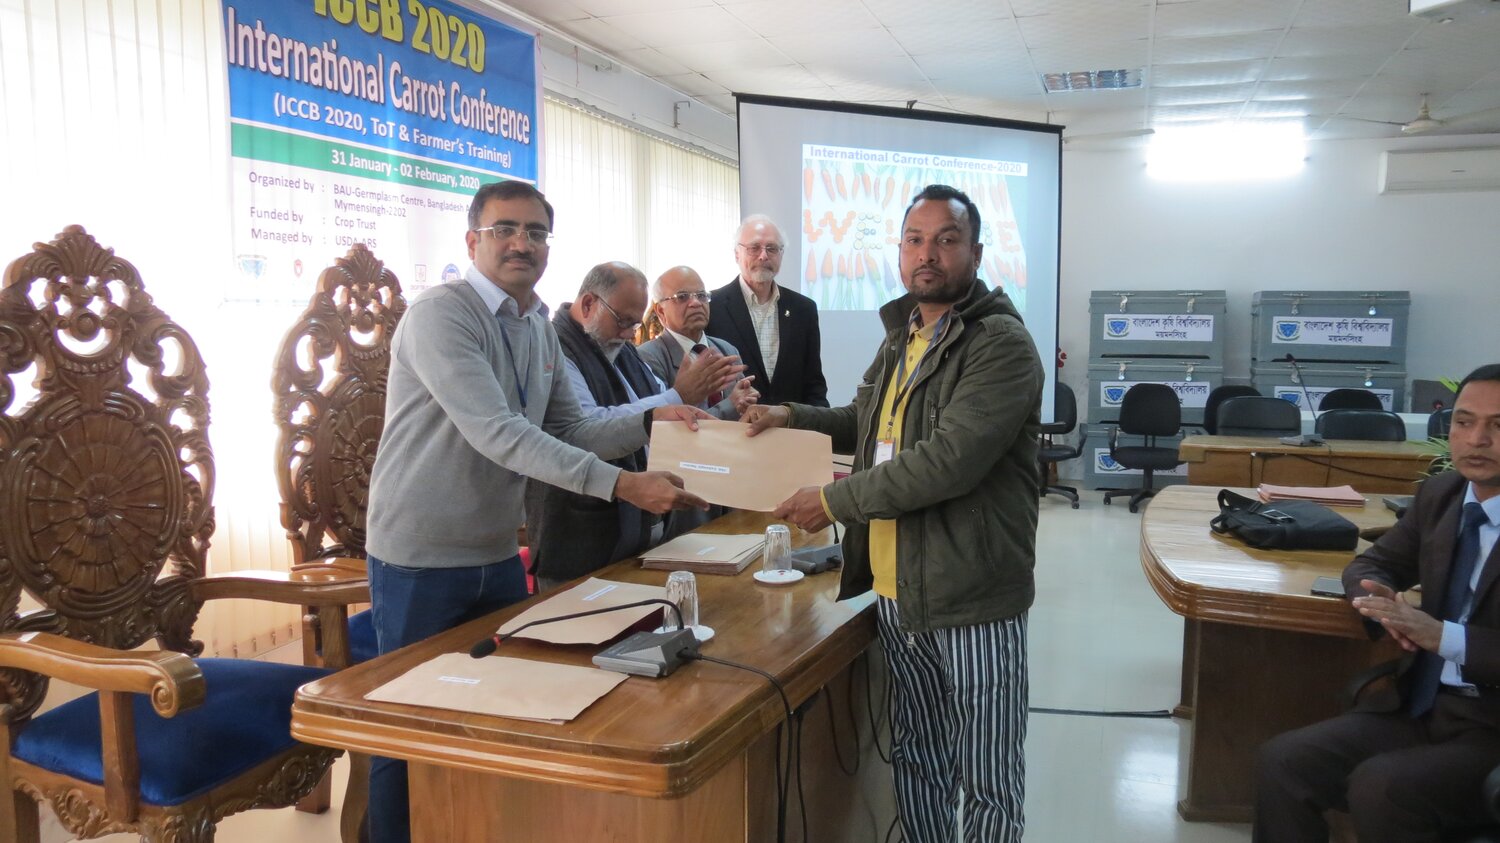
<instances>
[{"instance_id":1,"label":"far wooden desk in front of black office chairs","mask_svg":"<svg viewBox=\"0 0 1500 843\"><path fill-rule=\"evenodd\" d=\"M1192 486L1342 486L1360 492L1410 495L1432 464L1420 442L1328 440L1286 446L1275 436L1184 436L1178 456Z\"/></svg>"}]
</instances>

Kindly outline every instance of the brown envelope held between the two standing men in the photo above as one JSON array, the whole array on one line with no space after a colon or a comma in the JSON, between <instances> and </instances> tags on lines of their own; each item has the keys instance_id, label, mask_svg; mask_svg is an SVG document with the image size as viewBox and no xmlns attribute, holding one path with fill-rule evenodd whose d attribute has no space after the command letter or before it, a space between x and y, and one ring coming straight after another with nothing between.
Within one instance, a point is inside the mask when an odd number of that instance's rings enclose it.
<instances>
[{"instance_id":1,"label":"brown envelope held between the two standing men","mask_svg":"<svg viewBox=\"0 0 1500 843\"><path fill-rule=\"evenodd\" d=\"M746 436L748 424L699 418L698 432L681 422L651 426L646 468L670 471L688 492L711 504L771 512L802 486L834 478L834 441L814 430L772 428Z\"/></svg>"}]
</instances>

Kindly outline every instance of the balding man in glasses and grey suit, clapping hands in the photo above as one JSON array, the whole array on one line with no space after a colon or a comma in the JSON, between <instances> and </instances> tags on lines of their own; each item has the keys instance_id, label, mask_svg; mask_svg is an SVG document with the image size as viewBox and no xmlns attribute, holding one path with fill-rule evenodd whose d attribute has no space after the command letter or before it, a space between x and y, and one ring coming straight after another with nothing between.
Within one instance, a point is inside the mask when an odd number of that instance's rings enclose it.
<instances>
[{"instance_id":1,"label":"balding man in glasses and grey suit, clapping hands","mask_svg":"<svg viewBox=\"0 0 1500 843\"><path fill-rule=\"evenodd\" d=\"M672 267L662 273L652 288L652 309L666 330L642 344L638 351L668 388L708 362L740 358L734 345L705 333L710 296L704 291L704 279L692 267ZM716 418L734 422L759 399L760 393L753 382L753 376L741 378L732 388L718 390L693 404Z\"/></svg>"}]
</instances>

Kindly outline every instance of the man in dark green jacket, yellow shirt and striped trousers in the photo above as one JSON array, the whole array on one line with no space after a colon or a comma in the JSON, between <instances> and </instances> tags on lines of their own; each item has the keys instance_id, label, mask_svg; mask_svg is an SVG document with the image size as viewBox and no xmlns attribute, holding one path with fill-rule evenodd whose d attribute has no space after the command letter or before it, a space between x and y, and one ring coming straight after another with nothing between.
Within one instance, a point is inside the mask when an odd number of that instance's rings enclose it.
<instances>
[{"instance_id":1,"label":"man in dark green jacket, yellow shirt and striped trousers","mask_svg":"<svg viewBox=\"0 0 1500 843\"><path fill-rule=\"evenodd\" d=\"M846 598L874 588L891 670L892 765L914 843L1020 840L1024 828L1026 609L1035 596L1042 369L1005 292L976 278L980 212L926 188L906 208L908 296L854 404L754 406L766 428L822 430L854 472L776 510L802 530L849 525Z\"/></svg>"}]
</instances>

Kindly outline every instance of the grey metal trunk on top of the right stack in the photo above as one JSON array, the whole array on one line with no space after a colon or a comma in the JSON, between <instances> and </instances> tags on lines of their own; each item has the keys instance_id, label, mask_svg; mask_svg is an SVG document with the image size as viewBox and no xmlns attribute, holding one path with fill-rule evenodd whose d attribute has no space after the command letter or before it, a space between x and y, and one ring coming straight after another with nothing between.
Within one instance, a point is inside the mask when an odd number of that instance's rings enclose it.
<instances>
[{"instance_id":1,"label":"grey metal trunk on top of the right stack","mask_svg":"<svg viewBox=\"0 0 1500 843\"><path fill-rule=\"evenodd\" d=\"M1406 366L1412 294L1262 291L1251 297L1250 356L1260 363L1287 354L1306 362Z\"/></svg>"}]
</instances>

